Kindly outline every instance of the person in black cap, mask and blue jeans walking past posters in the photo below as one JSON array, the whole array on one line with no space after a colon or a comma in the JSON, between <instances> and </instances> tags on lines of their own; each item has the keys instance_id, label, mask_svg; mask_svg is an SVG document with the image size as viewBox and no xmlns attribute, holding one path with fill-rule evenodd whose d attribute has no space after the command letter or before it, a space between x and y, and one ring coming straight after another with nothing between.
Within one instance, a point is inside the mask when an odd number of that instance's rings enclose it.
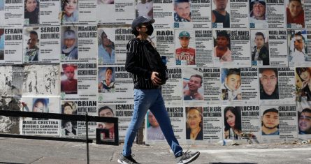
<instances>
[{"instance_id":1,"label":"person in black cap, mask and blue jeans walking past posters","mask_svg":"<svg viewBox=\"0 0 311 164\"><path fill-rule=\"evenodd\" d=\"M171 120L168 117L168 112L164 105L164 100L161 95L161 79L159 73L150 68L148 61L159 65L157 61L161 61L159 53L147 41L147 37L152 34L152 23L154 20L147 17L137 17L131 25L132 33L136 36L129 41L126 46L126 71L133 74L134 83L134 107L133 117L129 128L127 129L124 139L124 147L119 163L138 163L131 155L131 147L135 139L138 128L143 124L147 110L154 114L159 122L161 131L164 133L168 145L171 147L176 163L190 163L199 156L199 152L190 154L189 152L182 153L178 140L176 139ZM147 55L149 55L147 59ZM159 60L160 59L160 60Z\"/></svg>"}]
</instances>

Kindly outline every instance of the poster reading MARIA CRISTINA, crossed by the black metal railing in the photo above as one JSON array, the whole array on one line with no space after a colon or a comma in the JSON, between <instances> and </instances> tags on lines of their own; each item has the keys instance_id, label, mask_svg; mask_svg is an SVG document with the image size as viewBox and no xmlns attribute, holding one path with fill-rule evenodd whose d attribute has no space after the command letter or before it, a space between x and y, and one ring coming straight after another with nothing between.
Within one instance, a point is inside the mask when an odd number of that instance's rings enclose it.
<instances>
[{"instance_id":1,"label":"poster reading MARIA CRISTINA, crossed by the black metal railing","mask_svg":"<svg viewBox=\"0 0 311 164\"><path fill-rule=\"evenodd\" d=\"M58 96L23 96L22 111L59 113ZM20 119L20 134L59 136L59 120L22 117Z\"/></svg>"}]
</instances>

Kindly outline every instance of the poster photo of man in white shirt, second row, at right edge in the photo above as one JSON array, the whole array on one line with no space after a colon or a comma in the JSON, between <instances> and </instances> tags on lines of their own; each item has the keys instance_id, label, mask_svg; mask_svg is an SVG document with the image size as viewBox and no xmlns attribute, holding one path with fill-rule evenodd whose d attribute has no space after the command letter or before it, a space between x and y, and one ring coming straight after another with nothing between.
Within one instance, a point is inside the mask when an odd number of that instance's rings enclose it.
<instances>
[{"instance_id":1,"label":"poster photo of man in white shirt, second row, at right edge","mask_svg":"<svg viewBox=\"0 0 311 164\"><path fill-rule=\"evenodd\" d=\"M310 30L288 30L287 49L289 66L310 66Z\"/></svg>"}]
</instances>

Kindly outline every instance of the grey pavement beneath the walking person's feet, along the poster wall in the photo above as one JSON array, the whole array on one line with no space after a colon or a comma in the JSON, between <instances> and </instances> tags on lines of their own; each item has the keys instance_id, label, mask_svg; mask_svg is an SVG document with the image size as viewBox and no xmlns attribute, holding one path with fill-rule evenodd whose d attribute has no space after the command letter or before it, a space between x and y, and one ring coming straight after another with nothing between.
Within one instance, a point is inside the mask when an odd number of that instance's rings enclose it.
<instances>
[{"instance_id":1,"label":"grey pavement beneath the walking person's feet, along the poster wall","mask_svg":"<svg viewBox=\"0 0 311 164\"><path fill-rule=\"evenodd\" d=\"M122 146L89 144L89 163L117 163ZM311 144L240 144L238 146L183 145L185 151L200 151L194 163L311 163ZM0 137L0 163L87 163L86 144ZM174 163L168 145L133 145L140 163Z\"/></svg>"}]
</instances>

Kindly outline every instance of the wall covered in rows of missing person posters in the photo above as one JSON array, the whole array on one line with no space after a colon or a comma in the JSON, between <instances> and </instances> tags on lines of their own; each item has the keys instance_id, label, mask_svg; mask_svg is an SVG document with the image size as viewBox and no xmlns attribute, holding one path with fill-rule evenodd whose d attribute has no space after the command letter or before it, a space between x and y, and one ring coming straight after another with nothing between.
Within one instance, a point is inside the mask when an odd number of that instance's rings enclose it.
<instances>
[{"instance_id":1,"label":"wall covered in rows of missing person posters","mask_svg":"<svg viewBox=\"0 0 311 164\"><path fill-rule=\"evenodd\" d=\"M133 115L126 72L131 22L166 57L162 86L179 142L311 138L310 0L0 1L0 109L119 118ZM115 138L114 124L89 122ZM145 142L166 143L147 112ZM85 137L82 121L0 117L0 132Z\"/></svg>"}]
</instances>

